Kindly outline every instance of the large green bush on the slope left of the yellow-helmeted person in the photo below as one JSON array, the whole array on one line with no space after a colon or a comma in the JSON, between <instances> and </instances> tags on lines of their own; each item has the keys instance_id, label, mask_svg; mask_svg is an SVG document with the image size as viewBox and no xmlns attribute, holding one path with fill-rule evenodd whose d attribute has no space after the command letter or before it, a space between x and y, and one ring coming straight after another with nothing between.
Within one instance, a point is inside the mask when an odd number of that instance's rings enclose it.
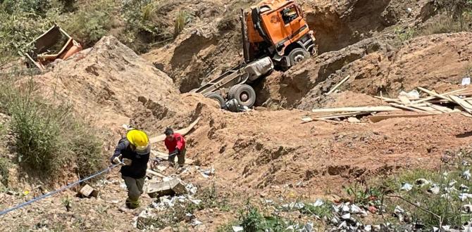
<instances>
[{"instance_id":1,"label":"large green bush on the slope left of the yellow-helmeted person","mask_svg":"<svg viewBox=\"0 0 472 232\"><path fill-rule=\"evenodd\" d=\"M11 115L18 162L44 179L54 179L64 168L77 167L86 176L104 167L101 142L77 119L70 105L51 105L35 93L32 81L14 87L3 82L0 101Z\"/></svg>"}]
</instances>

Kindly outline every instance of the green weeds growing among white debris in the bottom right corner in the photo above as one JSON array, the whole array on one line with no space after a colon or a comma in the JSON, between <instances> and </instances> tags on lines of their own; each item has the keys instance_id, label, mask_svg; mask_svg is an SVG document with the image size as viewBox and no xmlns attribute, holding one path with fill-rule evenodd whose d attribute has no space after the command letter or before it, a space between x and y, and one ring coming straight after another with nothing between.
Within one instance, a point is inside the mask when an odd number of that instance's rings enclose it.
<instances>
[{"instance_id":1,"label":"green weeds growing among white debris in the bottom right corner","mask_svg":"<svg viewBox=\"0 0 472 232\"><path fill-rule=\"evenodd\" d=\"M438 170L416 169L381 181L383 188L393 192L385 195L387 210L390 212L399 205L411 213L414 221L422 221L428 228L440 225L461 226L469 221L471 215L461 213L464 202L459 195L465 191L461 189L472 188L471 180L463 176L470 168L468 164L472 162L471 151L471 148L465 148L452 153L455 158L441 165ZM416 186L417 179L426 179L428 184ZM404 183L415 186L411 191L400 191ZM428 192L433 184L439 187L439 193Z\"/></svg>"}]
</instances>

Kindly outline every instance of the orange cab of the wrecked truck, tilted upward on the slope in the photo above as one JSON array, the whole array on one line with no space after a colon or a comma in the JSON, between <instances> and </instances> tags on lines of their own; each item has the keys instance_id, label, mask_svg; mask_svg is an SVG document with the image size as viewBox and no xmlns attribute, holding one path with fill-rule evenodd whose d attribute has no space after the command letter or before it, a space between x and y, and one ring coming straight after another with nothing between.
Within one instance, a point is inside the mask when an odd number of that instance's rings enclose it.
<instances>
[{"instance_id":1,"label":"orange cab of the wrecked truck, tilted upward on the slope","mask_svg":"<svg viewBox=\"0 0 472 232\"><path fill-rule=\"evenodd\" d=\"M276 65L290 67L316 53L314 32L293 0L261 1L244 18L249 61L270 56Z\"/></svg>"}]
</instances>

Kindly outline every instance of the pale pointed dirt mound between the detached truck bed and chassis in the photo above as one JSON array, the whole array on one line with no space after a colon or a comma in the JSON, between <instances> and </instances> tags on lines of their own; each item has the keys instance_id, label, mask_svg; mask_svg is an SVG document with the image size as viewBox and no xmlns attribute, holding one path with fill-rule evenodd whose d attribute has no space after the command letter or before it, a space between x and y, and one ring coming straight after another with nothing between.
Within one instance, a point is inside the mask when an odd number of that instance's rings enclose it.
<instances>
[{"instance_id":1,"label":"pale pointed dirt mound between the detached truck bed and chassis","mask_svg":"<svg viewBox=\"0 0 472 232\"><path fill-rule=\"evenodd\" d=\"M107 129L137 123L143 115L165 124L165 119L188 111L172 79L114 37L58 61L35 81L44 95L70 102Z\"/></svg>"}]
</instances>

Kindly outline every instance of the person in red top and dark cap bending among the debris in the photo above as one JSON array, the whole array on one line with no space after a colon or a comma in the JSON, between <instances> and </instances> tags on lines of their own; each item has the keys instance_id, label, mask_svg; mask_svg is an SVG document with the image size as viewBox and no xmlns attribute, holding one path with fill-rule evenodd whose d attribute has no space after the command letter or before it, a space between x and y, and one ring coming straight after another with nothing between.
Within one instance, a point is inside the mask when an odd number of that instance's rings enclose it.
<instances>
[{"instance_id":1,"label":"person in red top and dark cap bending among the debris","mask_svg":"<svg viewBox=\"0 0 472 232\"><path fill-rule=\"evenodd\" d=\"M169 150L169 162L171 165L175 163L175 156L178 157L178 165L179 167L183 167L185 164L185 153L187 150L185 149L185 138L181 134L174 133L173 129L170 127L166 128L164 132L166 134L166 139L164 140L164 144L166 144L167 150Z\"/></svg>"}]
</instances>

